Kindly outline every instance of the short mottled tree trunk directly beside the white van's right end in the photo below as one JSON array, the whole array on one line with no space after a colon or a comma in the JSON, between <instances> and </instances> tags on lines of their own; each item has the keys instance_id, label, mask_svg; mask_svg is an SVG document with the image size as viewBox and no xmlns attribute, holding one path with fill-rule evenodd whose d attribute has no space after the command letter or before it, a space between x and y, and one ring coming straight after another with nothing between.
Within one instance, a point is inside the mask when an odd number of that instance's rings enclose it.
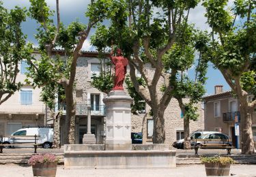
<instances>
[{"instance_id":1,"label":"short mottled tree trunk directly beside the white van's right end","mask_svg":"<svg viewBox=\"0 0 256 177\"><path fill-rule=\"evenodd\" d=\"M60 140L60 131L59 131L59 122L60 122L60 112L58 112L53 119L53 148L60 148L61 147L61 140Z\"/></svg>"}]
</instances>

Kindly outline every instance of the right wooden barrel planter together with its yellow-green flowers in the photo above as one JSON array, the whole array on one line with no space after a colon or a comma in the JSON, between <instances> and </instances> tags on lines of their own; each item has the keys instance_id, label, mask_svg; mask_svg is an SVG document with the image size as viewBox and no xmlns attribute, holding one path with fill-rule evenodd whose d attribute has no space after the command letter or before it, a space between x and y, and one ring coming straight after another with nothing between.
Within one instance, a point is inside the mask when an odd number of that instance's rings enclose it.
<instances>
[{"instance_id":1,"label":"right wooden barrel planter together with its yellow-green flowers","mask_svg":"<svg viewBox=\"0 0 256 177\"><path fill-rule=\"evenodd\" d=\"M234 163L231 157L200 157L205 165L206 176L229 176L230 165Z\"/></svg>"}]
</instances>

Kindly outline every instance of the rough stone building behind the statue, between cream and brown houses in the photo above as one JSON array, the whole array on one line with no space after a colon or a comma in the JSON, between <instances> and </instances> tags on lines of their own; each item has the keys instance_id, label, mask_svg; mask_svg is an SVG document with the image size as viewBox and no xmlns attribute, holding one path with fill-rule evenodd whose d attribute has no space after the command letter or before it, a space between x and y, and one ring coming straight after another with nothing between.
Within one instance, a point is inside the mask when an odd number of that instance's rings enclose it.
<instances>
[{"instance_id":1,"label":"rough stone building behind the statue, between cream and brown houses","mask_svg":"<svg viewBox=\"0 0 256 177\"><path fill-rule=\"evenodd\" d=\"M81 144L83 134L87 129L87 105L91 105L91 131L96 134L96 143L104 142L106 129L104 128L105 108L102 99L106 94L91 86L91 76L100 73L100 61L97 52L83 52L79 57L76 66L76 88L74 98L76 99L76 144ZM128 68L129 69L129 68ZM148 74L152 74L154 69L147 65ZM127 71L129 73L129 71ZM137 73L139 76L139 72ZM199 120L191 121L190 131L203 129L203 109L201 103L198 104ZM145 110L132 114L132 132L143 131L143 143L152 143L152 116L146 116L150 111L149 106ZM65 115L62 116L65 118ZM63 127L64 121L61 122ZM175 140L184 137L183 118L177 100L171 99L165 111L166 143L171 144ZM61 133L63 135L63 133ZM63 140L63 138L61 138Z\"/></svg>"}]
</instances>

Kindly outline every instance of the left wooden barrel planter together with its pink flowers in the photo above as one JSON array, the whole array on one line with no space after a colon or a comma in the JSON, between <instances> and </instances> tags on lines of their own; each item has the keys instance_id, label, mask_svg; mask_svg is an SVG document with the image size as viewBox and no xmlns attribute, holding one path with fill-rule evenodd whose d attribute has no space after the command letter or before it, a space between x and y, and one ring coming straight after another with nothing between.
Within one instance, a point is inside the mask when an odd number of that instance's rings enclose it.
<instances>
[{"instance_id":1,"label":"left wooden barrel planter together with its pink flowers","mask_svg":"<svg viewBox=\"0 0 256 177\"><path fill-rule=\"evenodd\" d=\"M33 155L28 164L32 165L33 176L56 176L59 158L53 154Z\"/></svg>"}]
</instances>

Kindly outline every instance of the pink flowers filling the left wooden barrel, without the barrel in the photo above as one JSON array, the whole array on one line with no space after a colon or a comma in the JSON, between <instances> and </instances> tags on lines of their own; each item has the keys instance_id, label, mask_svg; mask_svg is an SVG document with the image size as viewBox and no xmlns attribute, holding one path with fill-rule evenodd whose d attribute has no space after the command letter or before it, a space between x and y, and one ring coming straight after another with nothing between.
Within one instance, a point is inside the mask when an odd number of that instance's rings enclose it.
<instances>
[{"instance_id":1,"label":"pink flowers filling the left wooden barrel, without the barrel","mask_svg":"<svg viewBox=\"0 0 256 177\"><path fill-rule=\"evenodd\" d=\"M59 162L59 158L55 157L53 154L41 154L41 155L33 155L30 157L27 162L29 165L35 165L36 163L51 163L51 162Z\"/></svg>"}]
</instances>

